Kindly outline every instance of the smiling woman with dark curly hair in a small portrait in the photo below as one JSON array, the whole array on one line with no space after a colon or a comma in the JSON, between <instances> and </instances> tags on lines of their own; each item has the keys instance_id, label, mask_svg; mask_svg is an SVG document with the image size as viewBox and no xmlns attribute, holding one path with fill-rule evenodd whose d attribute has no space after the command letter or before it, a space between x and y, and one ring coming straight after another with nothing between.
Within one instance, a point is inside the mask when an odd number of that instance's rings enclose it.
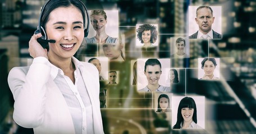
<instances>
[{"instance_id":1,"label":"smiling woman with dark curly hair in a small portrait","mask_svg":"<svg viewBox=\"0 0 256 134\"><path fill-rule=\"evenodd\" d=\"M153 44L157 40L157 27L150 24L140 25L136 30L137 38L145 47L154 46Z\"/></svg>"}]
</instances>

